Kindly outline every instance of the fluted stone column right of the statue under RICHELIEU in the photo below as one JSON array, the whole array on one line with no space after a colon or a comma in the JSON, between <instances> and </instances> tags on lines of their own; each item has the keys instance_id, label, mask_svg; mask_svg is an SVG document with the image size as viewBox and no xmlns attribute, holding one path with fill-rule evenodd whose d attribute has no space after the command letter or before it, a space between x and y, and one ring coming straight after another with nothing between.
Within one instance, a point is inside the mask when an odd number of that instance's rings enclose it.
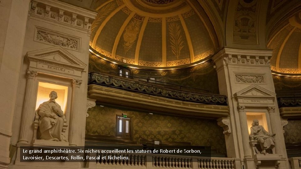
<instances>
[{"instance_id":1,"label":"fluted stone column right of the statue under RICHELIEU","mask_svg":"<svg viewBox=\"0 0 301 169\"><path fill-rule=\"evenodd\" d=\"M77 90L82 84L82 80L72 79L72 98L71 98L71 113L70 113L70 130L69 130L69 145L77 146L76 144L76 127L77 127Z\"/></svg>"}]
</instances>

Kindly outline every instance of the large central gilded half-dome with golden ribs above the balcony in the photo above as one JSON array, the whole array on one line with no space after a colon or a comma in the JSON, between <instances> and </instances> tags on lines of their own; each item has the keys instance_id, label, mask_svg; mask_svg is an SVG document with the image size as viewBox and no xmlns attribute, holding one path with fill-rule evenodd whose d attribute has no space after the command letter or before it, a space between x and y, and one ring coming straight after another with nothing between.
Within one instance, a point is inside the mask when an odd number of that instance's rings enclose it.
<instances>
[{"instance_id":1,"label":"large central gilded half-dome with golden ribs above the balcony","mask_svg":"<svg viewBox=\"0 0 301 169\"><path fill-rule=\"evenodd\" d=\"M108 59L145 67L199 62L218 48L208 16L188 0L103 0L90 46Z\"/></svg>"}]
</instances>

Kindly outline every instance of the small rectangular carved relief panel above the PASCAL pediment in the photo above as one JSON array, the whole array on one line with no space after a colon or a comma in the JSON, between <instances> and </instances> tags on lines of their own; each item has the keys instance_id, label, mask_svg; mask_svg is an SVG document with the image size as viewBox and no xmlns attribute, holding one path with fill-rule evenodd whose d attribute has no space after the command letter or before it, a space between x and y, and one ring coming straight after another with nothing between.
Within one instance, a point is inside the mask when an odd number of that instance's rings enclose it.
<instances>
[{"instance_id":1,"label":"small rectangular carved relief panel above the PASCAL pediment","mask_svg":"<svg viewBox=\"0 0 301 169\"><path fill-rule=\"evenodd\" d=\"M265 84L264 74L236 74L235 83Z\"/></svg>"}]
</instances>

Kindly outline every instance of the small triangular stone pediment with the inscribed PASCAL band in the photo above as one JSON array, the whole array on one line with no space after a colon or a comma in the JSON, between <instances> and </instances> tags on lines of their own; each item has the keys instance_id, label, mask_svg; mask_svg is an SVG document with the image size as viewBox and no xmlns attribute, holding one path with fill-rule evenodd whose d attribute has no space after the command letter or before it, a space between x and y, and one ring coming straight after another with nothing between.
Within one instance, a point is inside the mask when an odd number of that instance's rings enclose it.
<instances>
[{"instance_id":1,"label":"small triangular stone pediment with the inscribed PASCAL band","mask_svg":"<svg viewBox=\"0 0 301 169\"><path fill-rule=\"evenodd\" d=\"M273 104L276 94L260 87L259 85L251 85L234 94L239 105L250 105L250 106L267 106Z\"/></svg>"}]
</instances>

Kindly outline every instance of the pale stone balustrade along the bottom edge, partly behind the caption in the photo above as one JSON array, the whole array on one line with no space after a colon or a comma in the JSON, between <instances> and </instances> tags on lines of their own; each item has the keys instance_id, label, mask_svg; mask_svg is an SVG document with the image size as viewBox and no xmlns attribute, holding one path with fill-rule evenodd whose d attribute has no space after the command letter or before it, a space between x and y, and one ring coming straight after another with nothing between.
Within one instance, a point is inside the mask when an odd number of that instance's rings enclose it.
<instances>
[{"instance_id":1,"label":"pale stone balustrade along the bottom edge, partly behind the caption","mask_svg":"<svg viewBox=\"0 0 301 169\"><path fill-rule=\"evenodd\" d=\"M90 154L90 156L93 156ZM87 162L89 168L192 168L192 169L235 169L240 161L234 158L178 156L167 154L124 154L124 153L95 153L94 156L105 157L100 160ZM108 157L122 157L110 159Z\"/></svg>"}]
</instances>

